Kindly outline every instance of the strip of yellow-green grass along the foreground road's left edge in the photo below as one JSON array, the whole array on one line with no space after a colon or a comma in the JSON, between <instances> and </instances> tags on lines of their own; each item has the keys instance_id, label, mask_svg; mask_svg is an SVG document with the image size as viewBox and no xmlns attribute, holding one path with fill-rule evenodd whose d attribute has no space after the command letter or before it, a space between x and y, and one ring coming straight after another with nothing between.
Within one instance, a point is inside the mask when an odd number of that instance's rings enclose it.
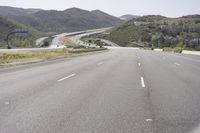
<instances>
[{"instance_id":1,"label":"strip of yellow-green grass along the foreground road's left edge","mask_svg":"<svg viewBox=\"0 0 200 133\"><path fill-rule=\"evenodd\" d=\"M88 52L102 51L101 49L60 49L47 51L20 51L20 52L2 52L0 53L0 66L26 64L49 59L57 59L64 57L71 57L75 55L82 55Z\"/></svg>"}]
</instances>

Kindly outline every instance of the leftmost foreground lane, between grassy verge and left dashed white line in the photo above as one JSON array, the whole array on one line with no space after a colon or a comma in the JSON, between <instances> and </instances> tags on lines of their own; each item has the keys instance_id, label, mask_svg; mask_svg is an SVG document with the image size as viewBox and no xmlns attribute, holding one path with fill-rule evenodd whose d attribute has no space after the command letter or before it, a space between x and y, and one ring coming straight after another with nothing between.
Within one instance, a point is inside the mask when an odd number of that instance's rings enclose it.
<instances>
[{"instance_id":1,"label":"leftmost foreground lane, between grassy verge and left dashed white line","mask_svg":"<svg viewBox=\"0 0 200 133\"><path fill-rule=\"evenodd\" d=\"M16 101L34 93L48 90L48 87L61 77L89 70L96 67L93 65L100 61L106 62L108 57L113 57L112 52L66 59L58 61L58 63L53 61L54 63L50 62L41 66L38 63L37 66L33 65L33 67L28 65L27 68L22 66L22 69L19 67L15 71L8 69L6 72L0 72L0 99ZM0 102L0 105L1 103L3 102Z\"/></svg>"}]
</instances>

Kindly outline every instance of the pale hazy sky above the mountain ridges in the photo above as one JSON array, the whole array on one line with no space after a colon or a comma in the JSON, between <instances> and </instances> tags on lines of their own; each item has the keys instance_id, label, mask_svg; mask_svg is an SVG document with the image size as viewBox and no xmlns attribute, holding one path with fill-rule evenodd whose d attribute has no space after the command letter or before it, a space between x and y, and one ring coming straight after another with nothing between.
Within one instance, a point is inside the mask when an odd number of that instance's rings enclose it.
<instances>
[{"instance_id":1,"label":"pale hazy sky above the mountain ridges","mask_svg":"<svg viewBox=\"0 0 200 133\"><path fill-rule=\"evenodd\" d=\"M200 14L200 0L1 0L0 5L47 10L99 9L117 17L125 14L167 17Z\"/></svg>"}]
</instances>

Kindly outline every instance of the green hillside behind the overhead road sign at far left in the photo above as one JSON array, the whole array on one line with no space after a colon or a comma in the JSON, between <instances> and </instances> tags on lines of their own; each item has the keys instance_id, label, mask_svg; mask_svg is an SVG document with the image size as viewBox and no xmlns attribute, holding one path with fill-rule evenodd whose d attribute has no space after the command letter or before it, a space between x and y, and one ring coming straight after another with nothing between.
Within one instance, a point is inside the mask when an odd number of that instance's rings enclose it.
<instances>
[{"instance_id":1,"label":"green hillside behind the overhead road sign at far left","mask_svg":"<svg viewBox=\"0 0 200 133\"><path fill-rule=\"evenodd\" d=\"M9 44L11 47L35 47L36 38L43 35L42 32L26 26L16 20L0 17L0 48L6 48L6 36L15 28L22 28L28 31L28 34L24 37L16 37L15 34L9 37Z\"/></svg>"}]
</instances>

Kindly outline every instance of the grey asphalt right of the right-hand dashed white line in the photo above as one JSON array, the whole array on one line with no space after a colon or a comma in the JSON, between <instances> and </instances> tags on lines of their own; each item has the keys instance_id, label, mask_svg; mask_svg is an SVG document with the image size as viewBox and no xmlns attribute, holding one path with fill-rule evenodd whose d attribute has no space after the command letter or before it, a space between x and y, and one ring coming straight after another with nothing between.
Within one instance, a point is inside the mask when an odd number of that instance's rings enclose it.
<instances>
[{"instance_id":1,"label":"grey asphalt right of the right-hand dashed white line","mask_svg":"<svg viewBox=\"0 0 200 133\"><path fill-rule=\"evenodd\" d=\"M188 60L160 52L138 54L150 89L154 132L192 133L200 123L198 58Z\"/></svg>"}]
</instances>

